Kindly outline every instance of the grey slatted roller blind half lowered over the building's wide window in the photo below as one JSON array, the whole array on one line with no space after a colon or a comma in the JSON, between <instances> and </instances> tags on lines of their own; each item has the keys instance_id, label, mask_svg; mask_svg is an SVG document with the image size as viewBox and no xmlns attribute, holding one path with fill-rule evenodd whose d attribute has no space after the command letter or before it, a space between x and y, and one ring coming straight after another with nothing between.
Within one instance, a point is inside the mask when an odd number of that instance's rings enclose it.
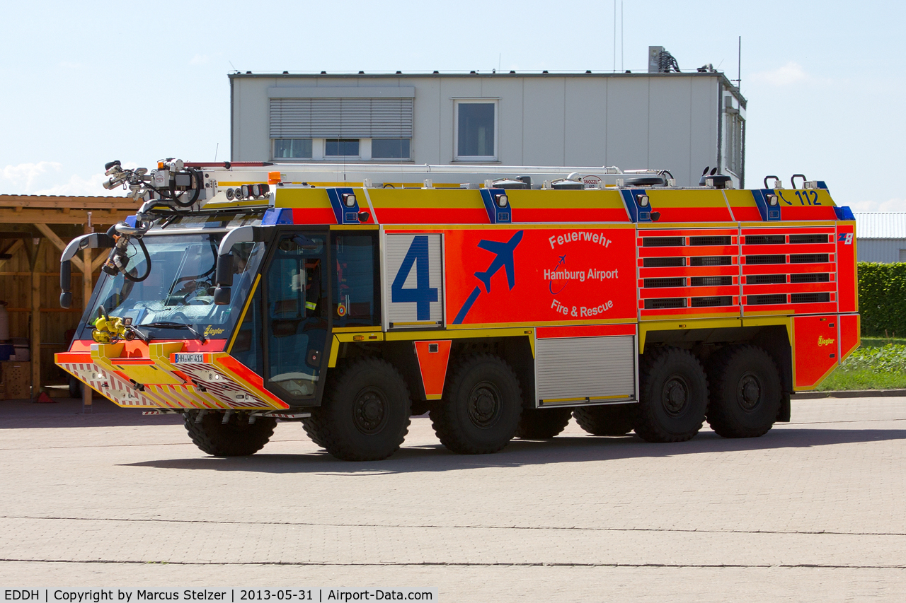
<instances>
[{"instance_id":1,"label":"grey slatted roller blind half lowered over the building's wide window","mask_svg":"<svg viewBox=\"0 0 906 603\"><path fill-rule=\"evenodd\" d=\"M271 99L272 139L412 137L412 99Z\"/></svg>"}]
</instances>

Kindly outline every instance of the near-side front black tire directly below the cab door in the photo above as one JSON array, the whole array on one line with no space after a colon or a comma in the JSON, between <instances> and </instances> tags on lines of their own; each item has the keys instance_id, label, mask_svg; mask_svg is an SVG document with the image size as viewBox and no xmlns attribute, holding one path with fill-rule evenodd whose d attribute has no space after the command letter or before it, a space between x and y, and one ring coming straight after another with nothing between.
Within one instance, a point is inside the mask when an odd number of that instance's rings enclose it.
<instances>
[{"instance_id":1,"label":"near-side front black tire directly below the cab door","mask_svg":"<svg viewBox=\"0 0 906 603\"><path fill-rule=\"evenodd\" d=\"M362 358L328 379L322 406L306 419L315 444L343 461L380 461L400 449L410 423L400 371L386 360Z\"/></svg>"}]
</instances>

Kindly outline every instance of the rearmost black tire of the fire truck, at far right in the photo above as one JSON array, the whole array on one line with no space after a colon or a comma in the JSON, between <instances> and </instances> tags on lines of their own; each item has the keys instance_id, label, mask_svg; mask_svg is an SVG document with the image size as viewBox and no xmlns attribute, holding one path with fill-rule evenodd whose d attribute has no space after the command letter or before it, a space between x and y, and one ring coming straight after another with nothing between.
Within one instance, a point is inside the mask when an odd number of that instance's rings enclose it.
<instances>
[{"instance_id":1,"label":"rearmost black tire of the fire truck, at far right","mask_svg":"<svg viewBox=\"0 0 906 603\"><path fill-rule=\"evenodd\" d=\"M737 346L714 355L710 367L708 425L718 436L764 436L783 401L780 371L757 346ZM712 356L712 358L714 358Z\"/></svg>"}]
</instances>

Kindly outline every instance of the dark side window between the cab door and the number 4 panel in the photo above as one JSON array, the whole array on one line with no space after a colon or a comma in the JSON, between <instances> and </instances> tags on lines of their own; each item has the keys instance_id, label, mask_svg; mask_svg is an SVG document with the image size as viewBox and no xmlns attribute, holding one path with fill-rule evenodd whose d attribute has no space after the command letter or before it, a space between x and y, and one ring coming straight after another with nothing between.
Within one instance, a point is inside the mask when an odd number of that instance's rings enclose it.
<instances>
[{"instance_id":1,"label":"dark side window between the cab door and the number 4 panel","mask_svg":"<svg viewBox=\"0 0 906 603\"><path fill-rule=\"evenodd\" d=\"M333 234L334 327L381 324L377 231Z\"/></svg>"}]
</instances>

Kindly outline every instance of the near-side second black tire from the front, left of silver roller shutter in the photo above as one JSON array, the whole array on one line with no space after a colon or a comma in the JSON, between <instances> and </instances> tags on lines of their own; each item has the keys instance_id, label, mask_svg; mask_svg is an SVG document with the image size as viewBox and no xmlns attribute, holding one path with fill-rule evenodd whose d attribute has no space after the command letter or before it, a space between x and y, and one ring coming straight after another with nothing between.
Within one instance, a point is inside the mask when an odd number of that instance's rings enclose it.
<instances>
[{"instance_id":1,"label":"near-side second black tire from the front, left of silver roller shutter","mask_svg":"<svg viewBox=\"0 0 906 603\"><path fill-rule=\"evenodd\" d=\"M503 359L476 354L461 360L429 416L434 433L460 455L487 455L503 449L522 415L522 388Z\"/></svg>"}]
</instances>

